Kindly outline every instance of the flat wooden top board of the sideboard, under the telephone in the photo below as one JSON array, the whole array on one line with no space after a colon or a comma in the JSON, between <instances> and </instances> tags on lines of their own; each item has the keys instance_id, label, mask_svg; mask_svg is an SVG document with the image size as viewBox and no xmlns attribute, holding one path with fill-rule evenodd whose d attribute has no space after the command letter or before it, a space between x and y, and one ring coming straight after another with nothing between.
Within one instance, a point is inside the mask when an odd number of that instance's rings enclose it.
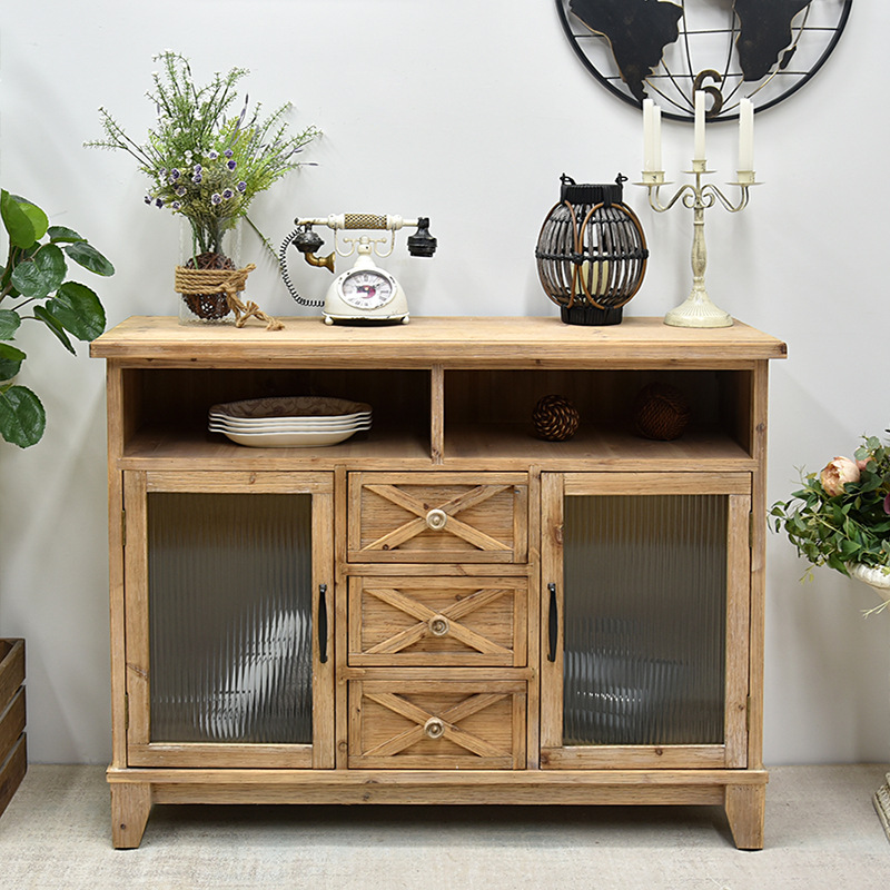
<instances>
[{"instance_id":1,"label":"flat wooden top board of the sideboard, under the telephone","mask_svg":"<svg viewBox=\"0 0 890 890\"><path fill-rule=\"evenodd\" d=\"M540 316L414 317L408 325L348 327L315 318L284 318L284 330L261 325L186 326L171 316L132 316L90 344L93 358L268 365L335 362L382 367L388 362L458 367L521 364L582 367L585 362L784 358L785 344L735 322L726 328L669 327L661 318L627 317L620 325L565 325Z\"/></svg>"}]
</instances>

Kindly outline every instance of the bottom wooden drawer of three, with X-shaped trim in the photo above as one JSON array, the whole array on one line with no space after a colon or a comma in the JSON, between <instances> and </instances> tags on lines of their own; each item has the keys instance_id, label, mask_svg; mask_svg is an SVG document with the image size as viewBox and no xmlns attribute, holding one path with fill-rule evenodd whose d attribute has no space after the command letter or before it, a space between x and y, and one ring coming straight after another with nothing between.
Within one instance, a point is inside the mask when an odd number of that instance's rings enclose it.
<instances>
[{"instance_id":1,"label":"bottom wooden drawer of three, with X-shaped trim","mask_svg":"<svg viewBox=\"0 0 890 890\"><path fill-rule=\"evenodd\" d=\"M524 682L354 680L349 768L521 770Z\"/></svg>"}]
</instances>

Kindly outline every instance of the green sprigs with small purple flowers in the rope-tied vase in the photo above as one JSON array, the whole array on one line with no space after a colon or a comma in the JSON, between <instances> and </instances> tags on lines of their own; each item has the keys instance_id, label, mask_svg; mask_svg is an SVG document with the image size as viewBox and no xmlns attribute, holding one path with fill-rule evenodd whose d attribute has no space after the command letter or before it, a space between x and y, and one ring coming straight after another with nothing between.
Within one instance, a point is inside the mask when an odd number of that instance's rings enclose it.
<instances>
[{"instance_id":1,"label":"green sprigs with small purple flowers in the rope-tied vase","mask_svg":"<svg viewBox=\"0 0 890 890\"><path fill-rule=\"evenodd\" d=\"M155 88L147 96L155 102L158 120L146 141L130 139L100 108L105 138L86 145L122 149L136 158L151 180L146 204L165 207L191 224L192 268L225 268L210 261L221 256L225 233L240 217L247 218L258 192L301 166L296 156L319 131L307 127L288 135L289 102L266 119L260 119L257 103L248 118L249 98L245 97L240 113L234 115L236 87L249 73L244 68L217 72L198 87L188 59L178 52L166 50L154 60L161 63L161 71L152 73Z\"/></svg>"}]
</instances>

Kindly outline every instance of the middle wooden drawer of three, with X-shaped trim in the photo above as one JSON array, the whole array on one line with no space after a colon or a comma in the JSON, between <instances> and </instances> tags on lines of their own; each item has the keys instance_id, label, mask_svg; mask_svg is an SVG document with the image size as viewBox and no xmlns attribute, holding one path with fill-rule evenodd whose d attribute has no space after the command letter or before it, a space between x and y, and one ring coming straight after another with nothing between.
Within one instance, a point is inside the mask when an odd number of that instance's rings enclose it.
<instances>
[{"instance_id":1,"label":"middle wooden drawer of three, with X-shaped trim","mask_svg":"<svg viewBox=\"0 0 890 890\"><path fill-rule=\"evenodd\" d=\"M523 668L525 577L350 577L349 664Z\"/></svg>"}]
</instances>

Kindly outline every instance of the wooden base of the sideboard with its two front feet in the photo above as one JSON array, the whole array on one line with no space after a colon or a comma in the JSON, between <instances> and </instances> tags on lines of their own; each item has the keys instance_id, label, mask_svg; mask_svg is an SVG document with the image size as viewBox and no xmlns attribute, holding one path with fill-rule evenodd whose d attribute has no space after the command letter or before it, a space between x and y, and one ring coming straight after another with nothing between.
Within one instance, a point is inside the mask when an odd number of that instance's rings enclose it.
<instances>
[{"instance_id":1,"label":"wooden base of the sideboard with its two front feet","mask_svg":"<svg viewBox=\"0 0 890 890\"><path fill-rule=\"evenodd\" d=\"M503 771L109 769L113 842L141 842L154 803L723 807L739 849L763 846L764 770Z\"/></svg>"}]
</instances>

